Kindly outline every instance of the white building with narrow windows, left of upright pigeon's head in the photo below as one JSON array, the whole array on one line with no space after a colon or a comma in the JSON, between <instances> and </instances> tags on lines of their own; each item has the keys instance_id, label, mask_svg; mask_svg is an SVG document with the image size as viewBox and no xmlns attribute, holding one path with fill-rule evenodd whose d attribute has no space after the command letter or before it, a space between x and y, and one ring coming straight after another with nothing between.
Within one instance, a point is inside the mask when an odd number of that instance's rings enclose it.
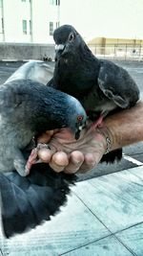
<instances>
[{"instance_id":1,"label":"white building with narrow windows, left of upright pigeon's head","mask_svg":"<svg viewBox=\"0 0 143 256\"><path fill-rule=\"evenodd\" d=\"M0 0L0 42L53 43L60 0Z\"/></svg>"}]
</instances>

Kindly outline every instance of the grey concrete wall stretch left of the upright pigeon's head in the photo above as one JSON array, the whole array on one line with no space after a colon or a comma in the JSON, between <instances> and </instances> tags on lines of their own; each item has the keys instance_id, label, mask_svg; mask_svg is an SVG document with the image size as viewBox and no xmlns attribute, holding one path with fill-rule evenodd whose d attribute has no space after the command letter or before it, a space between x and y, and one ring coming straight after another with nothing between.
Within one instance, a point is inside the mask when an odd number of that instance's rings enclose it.
<instances>
[{"instance_id":1,"label":"grey concrete wall stretch left of the upright pigeon's head","mask_svg":"<svg viewBox=\"0 0 143 256\"><path fill-rule=\"evenodd\" d=\"M54 59L53 44L0 43L0 60L2 59Z\"/></svg>"}]
</instances>

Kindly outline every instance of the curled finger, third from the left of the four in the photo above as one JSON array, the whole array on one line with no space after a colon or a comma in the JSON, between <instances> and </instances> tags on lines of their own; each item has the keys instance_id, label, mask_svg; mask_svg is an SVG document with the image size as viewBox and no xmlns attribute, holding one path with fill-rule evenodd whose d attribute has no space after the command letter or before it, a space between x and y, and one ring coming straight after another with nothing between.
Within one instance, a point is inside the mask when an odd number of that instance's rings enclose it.
<instances>
[{"instance_id":1,"label":"curled finger, third from the left of the four","mask_svg":"<svg viewBox=\"0 0 143 256\"><path fill-rule=\"evenodd\" d=\"M65 168L64 172L66 174L74 174L81 167L84 161L84 155L81 151L72 151L69 165Z\"/></svg>"}]
</instances>

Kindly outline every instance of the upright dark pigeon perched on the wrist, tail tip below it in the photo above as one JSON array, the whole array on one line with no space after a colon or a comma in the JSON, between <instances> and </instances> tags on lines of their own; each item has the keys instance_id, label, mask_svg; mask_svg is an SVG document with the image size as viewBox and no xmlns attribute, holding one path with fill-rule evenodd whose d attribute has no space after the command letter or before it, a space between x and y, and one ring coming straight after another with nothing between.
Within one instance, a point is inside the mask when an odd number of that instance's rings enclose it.
<instances>
[{"instance_id":1,"label":"upright dark pigeon perched on the wrist, tail tip below it","mask_svg":"<svg viewBox=\"0 0 143 256\"><path fill-rule=\"evenodd\" d=\"M139 90L125 69L112 61L95 58L70 25L56 29L53 38L56 62L49 86L77 98L92 121L135 105ZM117 150L104 155L101 161L113 162L121 157L122 150Z\"/></svg>"}]
</instances>

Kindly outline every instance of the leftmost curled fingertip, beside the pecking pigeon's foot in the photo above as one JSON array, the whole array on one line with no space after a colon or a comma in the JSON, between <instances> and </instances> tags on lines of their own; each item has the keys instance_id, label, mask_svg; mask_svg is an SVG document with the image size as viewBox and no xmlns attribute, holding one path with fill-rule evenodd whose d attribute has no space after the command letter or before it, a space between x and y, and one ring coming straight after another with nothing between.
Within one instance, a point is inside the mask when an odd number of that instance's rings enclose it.
<instances>
[{"instance_id":1,"label":"leftmost curled fingertip, beside the pecking pigeon's foot","mask_svg":"<svg viewBox=\"0 0 143 256\"><path fill-rule=\"evenodd\" d=\"M51 157L52 155L56 152L55 148L51 148L50 149L46 149L46 148L43 148L43 149L40 149L38 151L38 157L40 158L40 160L44 163L50 163L51 161Z\"/></svg>"}]
</instances>

